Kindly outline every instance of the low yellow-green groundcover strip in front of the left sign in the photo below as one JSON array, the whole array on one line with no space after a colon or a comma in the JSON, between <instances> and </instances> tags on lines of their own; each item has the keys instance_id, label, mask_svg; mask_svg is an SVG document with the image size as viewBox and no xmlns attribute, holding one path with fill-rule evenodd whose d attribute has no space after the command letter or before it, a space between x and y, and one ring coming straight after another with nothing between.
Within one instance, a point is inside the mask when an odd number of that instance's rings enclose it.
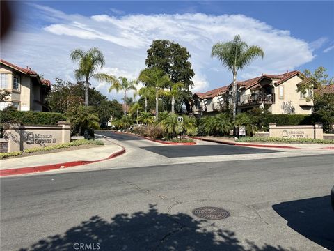
<instances>
[{"instance_id":1,"label":"low yellow-green groundcover strip in front of the left sign","mask_svg":"<svg viewBox=\"0 0 334 251\"><path fill-rule=\"evenodd\" d=\"M3 158L13 157L13 156L19 156L22 155L22 153L35 153L40 151L51 151L56 149L64 149L69 148L71 146L80 146L84 144L96 144L96 145L103 145L102 140L88 140L88 139L79 139L75 140L74 142L70 143L64 143L64 144L58 144L54 146L45 146L45 147L34 147L31 149L25 149L24 151L15 151L10 153L0 153L0 160Z\"/></svg>"}]
</instances>

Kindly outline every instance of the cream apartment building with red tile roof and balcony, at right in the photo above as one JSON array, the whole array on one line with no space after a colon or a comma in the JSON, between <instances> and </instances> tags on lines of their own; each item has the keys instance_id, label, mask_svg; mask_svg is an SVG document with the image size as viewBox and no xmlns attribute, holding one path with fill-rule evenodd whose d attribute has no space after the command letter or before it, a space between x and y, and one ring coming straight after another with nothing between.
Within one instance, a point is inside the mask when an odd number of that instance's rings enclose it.
<instances>
[{"instance_id":1,"label":"cream apartment building with red tile roof and balcony, at right","mask_svg":"<svg viewBox=\"0 0 334 251\"><path fill-rule=\"evenodd\" d=\"M264 74L253 79L237 82L237 112L253 107L266 107L272 114L311 114L311 93L297 91L302 81L298 70L280 75ZM196 116L214 115L224 107L232 107L232 84L205 93L194 93L191 113Z\"/></svg>"}]
</instances>

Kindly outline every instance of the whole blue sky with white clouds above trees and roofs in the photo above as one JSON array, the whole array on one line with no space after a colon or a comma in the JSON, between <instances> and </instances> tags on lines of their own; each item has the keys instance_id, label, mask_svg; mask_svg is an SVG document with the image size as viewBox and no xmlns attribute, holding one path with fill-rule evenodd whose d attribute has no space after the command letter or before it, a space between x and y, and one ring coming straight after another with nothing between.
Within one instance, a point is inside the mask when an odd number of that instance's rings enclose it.
<instances>
[{"instance_id":1,"label":"whole blue sky with white clouds above trees and roofs","mask_svg":"<svg viewBox=\"0 0 334 251\"><path fill-rule=\"evenodd\" d=\"M136 79L153 40L186 47L195 71L192 91L230 84L232 73L212 59L212 45L239 34L264 50L238 73L244 80L287 70L334 75L334 1L15 1L16 21L1 40L1 59L29 66L54 82L75 81L75 48L98 47L102 73ZM108 98L109 84L92 81Z\"/></svg>"}]
</instances>

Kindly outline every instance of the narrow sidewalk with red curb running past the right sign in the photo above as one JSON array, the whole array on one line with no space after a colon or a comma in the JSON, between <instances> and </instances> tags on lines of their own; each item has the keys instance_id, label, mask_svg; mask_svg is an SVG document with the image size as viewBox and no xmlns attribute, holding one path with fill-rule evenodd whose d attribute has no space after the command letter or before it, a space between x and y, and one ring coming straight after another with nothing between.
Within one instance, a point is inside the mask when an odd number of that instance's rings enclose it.
<instances>
[{"instance_id":1,"label":"narrow sidewalk with red curb running past the right sign","mask_svg":"<svg viewBox=\"0 0 334 251\"><path fill-rule=\"evenodd\" d=\"M284 144L274 142L235 142L232 139L220 139L219 137L192 137L193 139L204 140L208 142L216 142L221 144L230 144L234 146L254 146L254 147L270 147L270 148L285 148L285 149L305 149L305 150L317 150L328 149L334 150L334 144Z\"/></svg>"}]
</instances>

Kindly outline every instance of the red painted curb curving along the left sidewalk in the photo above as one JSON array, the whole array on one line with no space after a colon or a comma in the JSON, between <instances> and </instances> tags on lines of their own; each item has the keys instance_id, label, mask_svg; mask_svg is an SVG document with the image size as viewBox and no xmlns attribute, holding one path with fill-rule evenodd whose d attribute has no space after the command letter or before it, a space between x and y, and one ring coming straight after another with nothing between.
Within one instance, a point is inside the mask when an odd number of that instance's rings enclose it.
<instances>
[{"instance_id":1,"label":"red painted curb curving along the left sidewalk","mask_svg":"<svg viewBox=\"0 0 334 251\"><path fill-rule=\"evenodd\" d=\"M17 174L32 174L35 172L44 172L54 169L63 169L67 167L76 167L78 165L87 165L95 162L100 162L103 160L110 160L111 158L116 158L119 155L125 153L125 148L121 146L122 149L116 153L111 154L110 156L103 158L101 160L77 160L71 162L64 162L58 164L51 164L51 165L40 165L37 167L21 167L21 168L13 168L13 169L5 169L0 170L0 176L10 176L10 175L17 175Z\"/></svg>"}]
</instances>

